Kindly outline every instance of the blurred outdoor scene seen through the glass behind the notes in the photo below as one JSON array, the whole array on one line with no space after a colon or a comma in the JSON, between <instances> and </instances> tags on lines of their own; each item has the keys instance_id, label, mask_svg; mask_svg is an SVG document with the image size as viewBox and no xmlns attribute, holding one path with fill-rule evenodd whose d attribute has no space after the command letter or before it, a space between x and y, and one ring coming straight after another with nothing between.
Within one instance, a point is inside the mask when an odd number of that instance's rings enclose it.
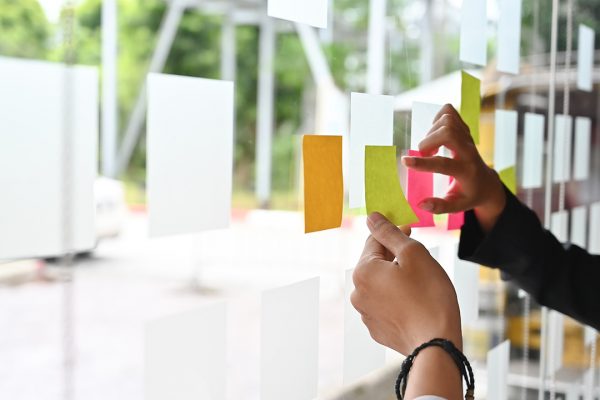
<instances>
[{"instance_id":1,"label":"blurred outdoor scene seen through the glass behind the notes","mask_svg":"<svg viewBox=\"0 0 600 400\"><path fill-rule=\"evenodd\" d=\"M347 210L342 228L302 233L301 135L347 134L349 93L379 92L396 97L394 143L399 153L406 150L414 100L459 104L462 2L329 3L329 28L314 30L267 18L261 0L81 0L66 6L0 0L0 56L64 62L65 18L72 17L71 61L97 67L103 88L97 246L70 267L58 258L0 262L0 398L142 399L145 322L226 299L228 396L258 399L260 291L315 275L322 279L320 396L391 398L398 365L393 354L389 369L357 387L342 385L344 273L354 267L367 230L364 215ZM370 19L373 3L385 7L385 16ZM600 3L574 3L573 26L593 28L599 49ZM565 53L566 4L559 7L556 112L570 82L570 113L592 120L591 178L567 183L566 207L572 208L600 200L600 52L594 90L574 90L576 56L568 60ZM522 114L547 113L551 11L549 1L523 1L521 74L506 76L493 61L498 4L488 1L491 62L475 72L482 78L480 151L490 162L495 109L520 111L519 147ZM106 16L113 25L103 25ZM577 29L572 40L576 48ZM230 230L148 238L148 72L235 80ZM2 76L0 90L1 82ZM542 217L547 190L558 198L558 186L519 189L519 196ZM457 241L455 233L437 228L415 229L414 236L431 249ZM539 308L534 304L529 318L524 303L497 271L481 268L479 318L464 329L466 353L481 378L477 397L485 397L487 351L508 338L510 397L537 398ZM594 365L583 332L575 321L565 322L564 367L555 381L561 395Z\"/></svg>"}]
</instances>

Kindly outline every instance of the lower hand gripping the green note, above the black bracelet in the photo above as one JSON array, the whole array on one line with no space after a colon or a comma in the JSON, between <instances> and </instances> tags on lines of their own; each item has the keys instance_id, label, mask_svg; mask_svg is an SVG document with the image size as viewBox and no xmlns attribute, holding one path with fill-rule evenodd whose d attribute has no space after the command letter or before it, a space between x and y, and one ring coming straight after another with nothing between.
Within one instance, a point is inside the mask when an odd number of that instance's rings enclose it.
<instances>
[{"instance_id":1,"label":"lower hand gripping the green note, above the black bracelet","mask_svg":"<svg viewBox=\"0 0 600 400\"><path fill-rule=\"evenodd\" d=\"M461 349L458 301L442 267L381 214L371 214L367 225L371 236L354 270L351 302L371 337L404 355L434 338Z\"/></svg>"}]
</instances>

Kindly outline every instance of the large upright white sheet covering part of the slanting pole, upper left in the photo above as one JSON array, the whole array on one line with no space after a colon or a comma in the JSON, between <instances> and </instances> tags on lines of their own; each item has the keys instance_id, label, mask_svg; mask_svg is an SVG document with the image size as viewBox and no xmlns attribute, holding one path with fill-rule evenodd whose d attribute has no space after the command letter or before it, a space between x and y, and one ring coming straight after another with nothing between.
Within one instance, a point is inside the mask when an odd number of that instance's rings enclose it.
<instances>
[{"instance_id":1,"label":"large upright white sheet covering part of the slanting pole, upper left","mask_svg":"<svg viewBox=\"0 0 600 400\"><path fill-rule=\"evenodd\" d=\"M233 83L148 75L151 236L229 226Z\"/></svg>"}]
</instances>

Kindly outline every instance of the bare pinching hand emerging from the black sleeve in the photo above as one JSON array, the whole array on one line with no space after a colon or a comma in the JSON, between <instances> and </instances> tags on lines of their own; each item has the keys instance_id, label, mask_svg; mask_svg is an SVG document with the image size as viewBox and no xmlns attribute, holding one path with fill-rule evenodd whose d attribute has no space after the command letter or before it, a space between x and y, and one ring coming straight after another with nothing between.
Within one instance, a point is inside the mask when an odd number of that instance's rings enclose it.
<instances>
[{"instance_id":1,"label":"bare pinching hand emerging from the black sleeve","mask_svg":"<svg viewBox=\"0 0 600 400\"><path fill-rule=\"evenodd\" d=\"M436 156L442 146L452 158ZM506 194L498 174L479 155L469 127L450 104L438 112L419 151L422 157L403 157L402 163L417 171L452 176L454 181L446 197L424 199L418 207L434 214L474 209L481 227L489 231L504 209Z\"/></svg>"}]
</instances>

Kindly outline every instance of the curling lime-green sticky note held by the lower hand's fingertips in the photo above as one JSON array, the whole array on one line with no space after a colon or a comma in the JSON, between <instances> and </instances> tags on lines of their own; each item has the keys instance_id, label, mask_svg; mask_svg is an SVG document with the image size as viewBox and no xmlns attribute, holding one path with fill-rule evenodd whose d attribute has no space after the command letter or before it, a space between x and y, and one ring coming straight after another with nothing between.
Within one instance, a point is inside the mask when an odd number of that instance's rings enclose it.
<instances>
[{"instance_id":1,"label":"curling lime-green sticky note held by the lower hand's fingertips","mask_svg":"<svg viewBox=\"0 0 600 400\"><path fill-rule=\"evenodd\" d=\"M396 164L396 146L365 147L367 213L378 212L394 225L419 222L404 197Z\"/></svg>"}]
</instances>

